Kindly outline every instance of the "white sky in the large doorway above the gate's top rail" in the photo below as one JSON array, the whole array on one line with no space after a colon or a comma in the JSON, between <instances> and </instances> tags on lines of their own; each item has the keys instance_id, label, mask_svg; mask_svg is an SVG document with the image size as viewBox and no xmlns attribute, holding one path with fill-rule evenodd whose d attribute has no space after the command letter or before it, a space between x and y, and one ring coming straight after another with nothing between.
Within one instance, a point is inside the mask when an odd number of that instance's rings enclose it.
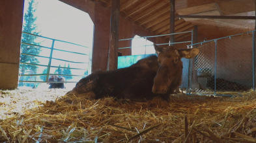
<instances>
[{"instance_id":1,"label":"white sky in the large doorway above the gate's top rail","mask_svg":"<svg viewBox=\"0 0 256 143\"><path fill-rule=\"evenodd\" d=\"M92 47L94 24L89 14L57 0L35 2L38 2L36 23L42 36ZM27 5L25 0L24 9Z\"/></svg>"}]
</instances>

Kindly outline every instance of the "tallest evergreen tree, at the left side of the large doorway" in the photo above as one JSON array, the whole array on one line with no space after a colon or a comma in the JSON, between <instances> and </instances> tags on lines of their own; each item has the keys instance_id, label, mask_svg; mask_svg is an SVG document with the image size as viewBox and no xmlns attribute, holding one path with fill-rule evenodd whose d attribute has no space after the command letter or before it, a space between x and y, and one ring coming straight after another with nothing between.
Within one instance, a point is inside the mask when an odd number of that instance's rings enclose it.
<instances>
[{"instance_id":1,"label":"tallest evergreen tree, at the left side of the large doorway","mask_svg":"<svg viewBox=\"0 0 256 143\"><path fill-rule=\"evenodd\" d=\"M36 5L35 0L28 0L29 7L27 8L27 12L25 12L25 15L23 17L23 32L27 32L30 34L36 34L38 35L39 32L36 32L36 19L37 17L34 15L36 11ZM21 41L23 43L29 43L33 45L39 45L39 43L35 42L36 36L31 36L28 34L22 34ZM35 47L32 45L25 45L21 44L21 53L24 54L32 54L32 55L38 55L40 53L41 49L40 47ZM35 56L28 56L21 54L20 56L20 62L21 63L38 63L38 59ZM28 70L28 72L36 73L36 65L27 65L27 64L20 64L20 72L21 74L25 74L25 71ZM20 80L23 80L23 76L21 76ZM19 84L20 86L23 85L22 82Z\"/></svg>"}]
</instances>

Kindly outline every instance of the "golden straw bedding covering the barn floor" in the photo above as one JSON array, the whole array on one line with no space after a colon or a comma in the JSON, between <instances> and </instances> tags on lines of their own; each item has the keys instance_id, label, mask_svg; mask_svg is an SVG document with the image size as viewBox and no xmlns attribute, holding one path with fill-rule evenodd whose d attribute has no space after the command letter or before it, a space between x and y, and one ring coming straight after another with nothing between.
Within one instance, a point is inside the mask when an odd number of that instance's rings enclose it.
<instances>
[{"instance_id":1,"label":"golden straw bedding covering the barn floor","mask_svg":"<svg viewBox=\"0 0 256 143\"><path fill-rule=\"evenodd\" d=\"M169 102L0 91L0 142L256 142L256 94L171 95Z\"/></svg>"}]
</instances>

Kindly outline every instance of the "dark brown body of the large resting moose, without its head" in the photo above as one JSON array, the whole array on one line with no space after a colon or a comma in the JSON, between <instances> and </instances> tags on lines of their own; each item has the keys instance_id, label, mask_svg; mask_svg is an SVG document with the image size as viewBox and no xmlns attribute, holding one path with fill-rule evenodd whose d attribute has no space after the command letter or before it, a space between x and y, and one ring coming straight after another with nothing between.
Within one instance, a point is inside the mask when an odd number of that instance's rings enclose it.
<instances>
[{"instance_id":1,"label":"dark brown body of the large resting moose, without its head","mask_svg":"<svg viewBox=\"0 0 256 143\"><path fill-rule=\"evenodd\" d=\"M81 79L68 94L80 94L92 99L113 96L118 99L145 101L155 96L151 90L157 70L157 56L149 56L130 67L92 73Z\"/></svg>"}]
</instances>

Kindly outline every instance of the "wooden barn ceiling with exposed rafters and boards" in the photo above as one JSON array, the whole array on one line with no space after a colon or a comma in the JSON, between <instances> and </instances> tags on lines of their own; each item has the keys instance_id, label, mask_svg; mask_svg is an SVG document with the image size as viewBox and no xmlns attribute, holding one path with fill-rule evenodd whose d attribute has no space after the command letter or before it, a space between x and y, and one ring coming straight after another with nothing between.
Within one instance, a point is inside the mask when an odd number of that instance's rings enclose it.
<instances>
[{"instance_id":1,"label":"wooden barn ceiling with exposed rafters and boards","mask_svg":"<svg viewBox=\"0 0 256 143\"><path fill-rule=\"evenodd\" d=\"M111 0L94 1L106 8L111 6ZM153 34L170 32L169 0L121 0L120 12L122 17L130 19ZM184 17L180 18L179 15ZM210 16L219 17L216 19ZM221 16L233 16L233 19L219 19ZM255 16L253 0L175 0L175 32L192 30L197 25L199 41L254 30L255 19L241 19L245 16ZM175 41L186 39L188 36L180 34L175 37Z\"/></svg>"}]
</instances>

